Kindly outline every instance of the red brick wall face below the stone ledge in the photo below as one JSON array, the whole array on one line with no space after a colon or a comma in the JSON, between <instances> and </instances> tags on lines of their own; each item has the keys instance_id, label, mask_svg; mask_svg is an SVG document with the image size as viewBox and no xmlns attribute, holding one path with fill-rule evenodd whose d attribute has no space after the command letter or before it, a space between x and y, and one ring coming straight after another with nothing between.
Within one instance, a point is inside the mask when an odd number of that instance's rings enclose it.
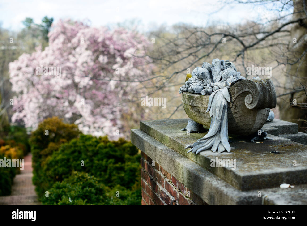
<instances>
[{"instance_id":1,"label":"red brick wall face below the stone ledge","mask_svg":"<svg viewBox=\"0 0 307 226\"><path fill-rule=\"evenodd\" d=\"M141 151L142 205L207 205Z\"/></svg>"}]
</instances>

